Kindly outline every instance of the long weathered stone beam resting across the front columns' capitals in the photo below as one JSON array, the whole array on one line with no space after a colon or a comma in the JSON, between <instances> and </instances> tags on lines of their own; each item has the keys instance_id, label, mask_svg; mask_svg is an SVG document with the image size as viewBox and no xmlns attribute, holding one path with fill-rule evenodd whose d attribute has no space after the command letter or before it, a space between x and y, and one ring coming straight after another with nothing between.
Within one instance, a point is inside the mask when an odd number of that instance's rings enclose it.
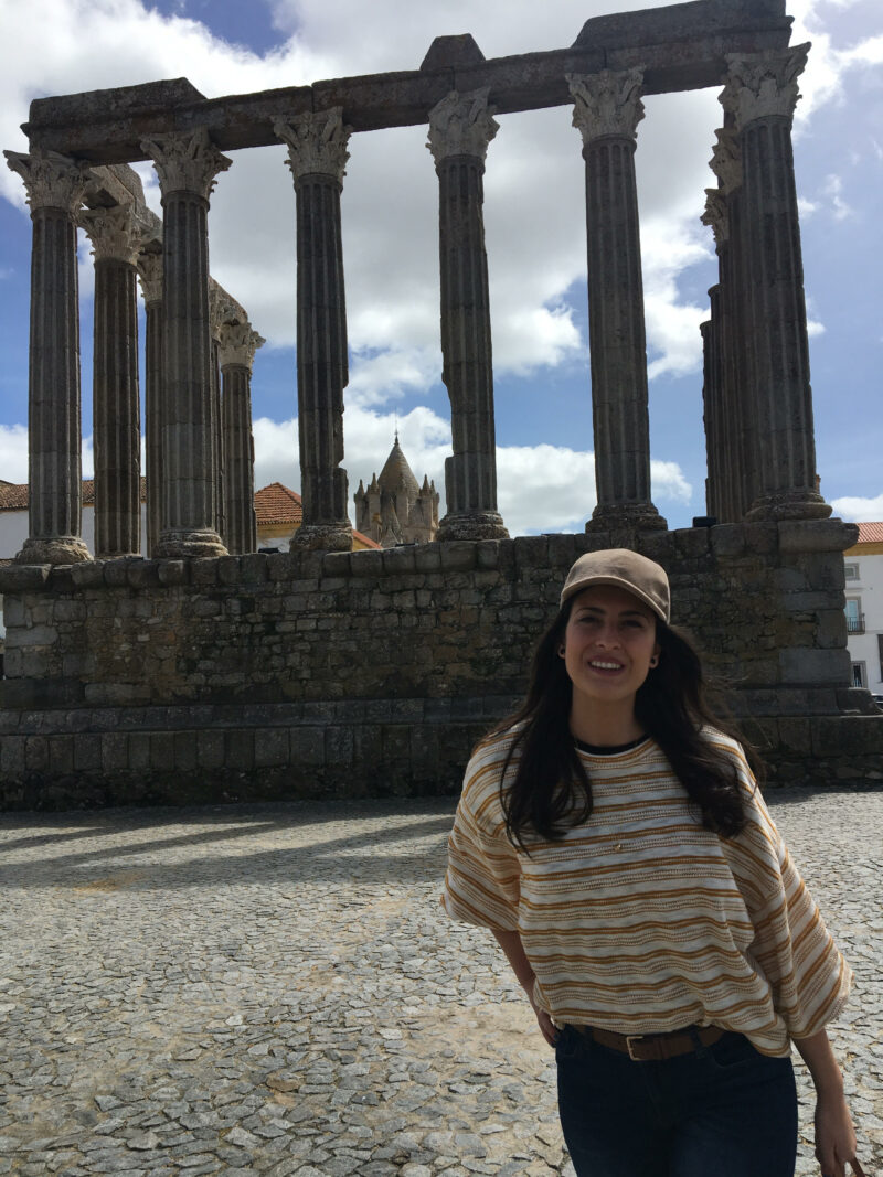
<instances>
[{"instance_id":1,"label":"long weathered stone beam resting across the front columns' capitals","mask_svg":"<svg viewBox=\"0 0 883 1177\"><path fill-rule=\"evenodd\" d=\"M416 126L451 91L487 89L497 113L566 106L567 74L644 71L644 94L718 86L728 54L786 48L791 21L784 0L692 0L587 20L562 49L485 60L469 34L439 36L417 69L338 78L254 94L207 99L178 78L91 91L31 104L25 132L32 149L58 151L91 164L147 158L141 140L204 127L220 151L278 142L273 124L341 107L353 131Z\"/></svg>"}]
</instances>

